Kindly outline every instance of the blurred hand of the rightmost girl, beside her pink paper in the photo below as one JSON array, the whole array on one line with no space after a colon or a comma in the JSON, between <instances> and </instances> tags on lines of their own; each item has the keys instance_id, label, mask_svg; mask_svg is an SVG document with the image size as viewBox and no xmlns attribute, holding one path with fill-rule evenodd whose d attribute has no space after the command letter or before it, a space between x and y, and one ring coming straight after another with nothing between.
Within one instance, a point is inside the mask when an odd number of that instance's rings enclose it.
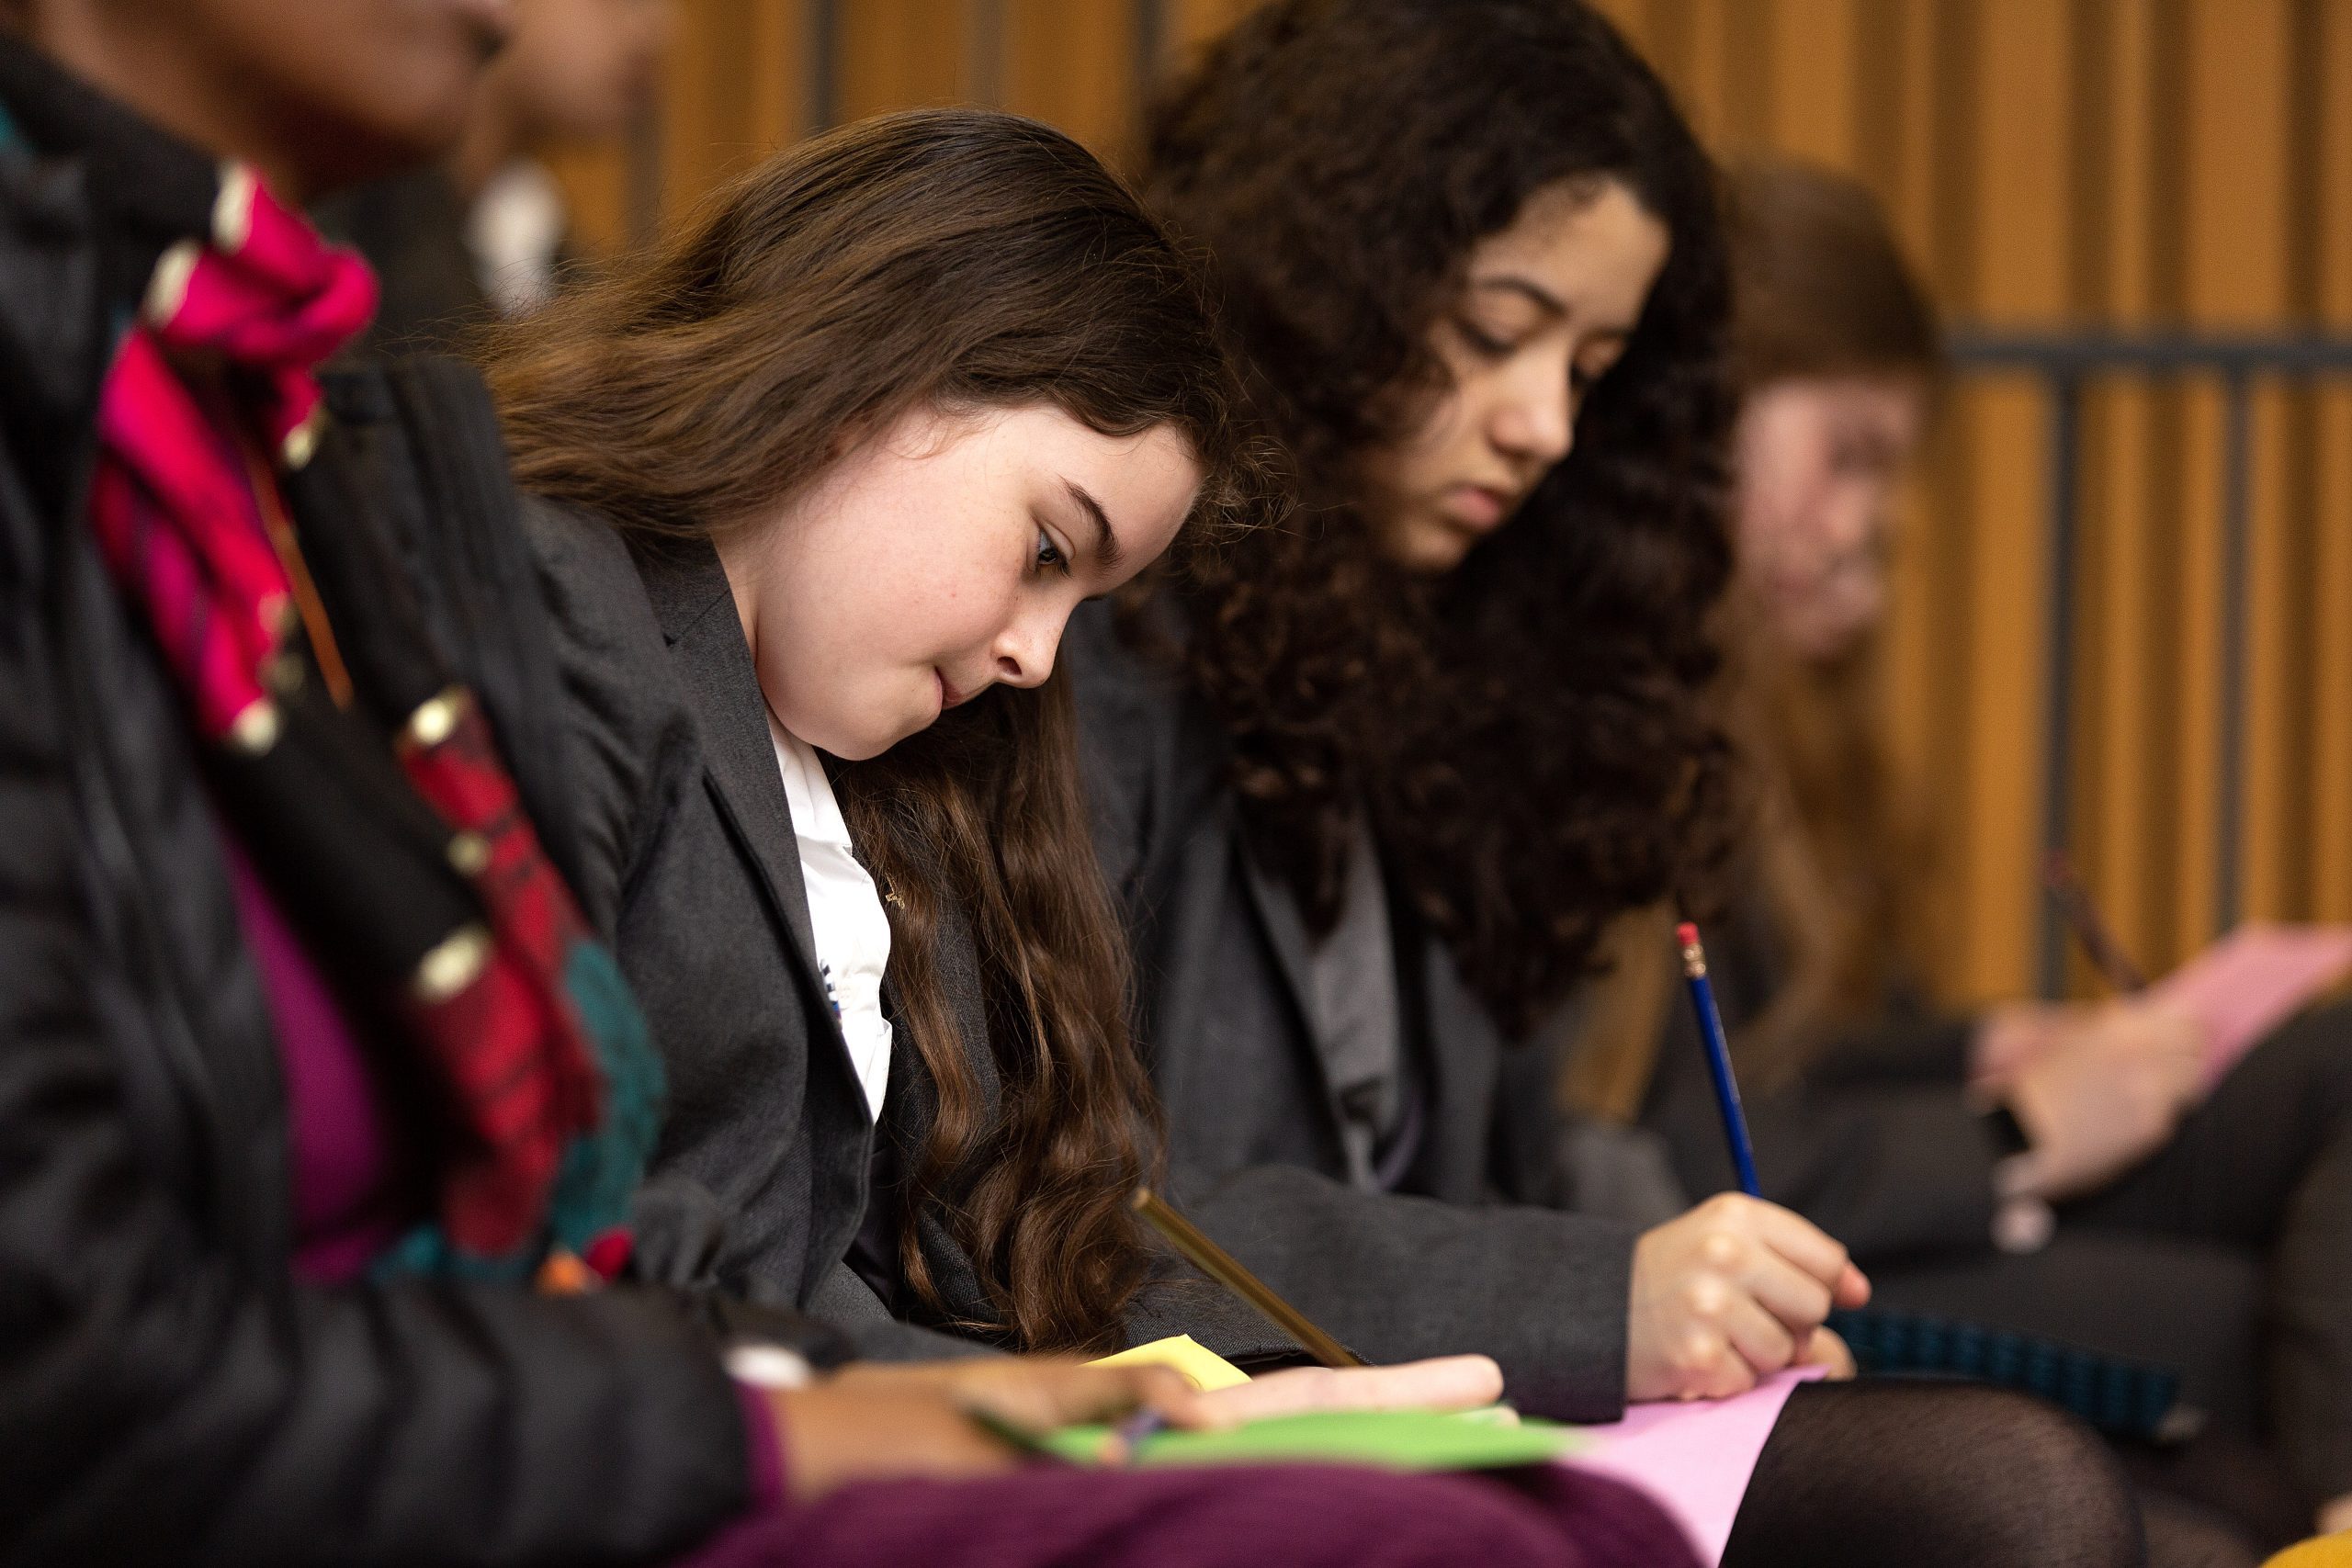
<instances>
[{"instance_id":1,"label":"blurred hand of the rightmost girl, beside her pink paper","mask_svg":"<svg viewBox=\"0 0 2352 1568\"><path fill-rule=\"evenodd\" d=\"M2178 1009L2112 1001L2004 1093L2032 1150L2011 1192L2070 1199L2154 1154L2204 1098L2204 1030Z\"/></svg>"}]
</instances>

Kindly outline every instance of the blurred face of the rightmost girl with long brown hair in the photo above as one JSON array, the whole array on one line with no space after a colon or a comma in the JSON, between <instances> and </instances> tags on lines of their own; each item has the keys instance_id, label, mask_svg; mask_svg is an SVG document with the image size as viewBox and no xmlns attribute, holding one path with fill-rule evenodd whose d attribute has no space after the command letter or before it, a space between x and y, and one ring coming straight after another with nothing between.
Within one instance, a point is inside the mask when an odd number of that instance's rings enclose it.
<instances>
[{"instance_id":1,"label":"blurred face of the rightmost girl with long brown hair","mask_svg":"<svg viewBox=\"0 0 2352 1568\"><path fill-rule=\"evenodd\" d=\"M1776 381L1740 409L1740 581L1799 658L1837 658L1879 623L1893 491L1924 421L1910 376Z\"/></svg>"}]
</instances>

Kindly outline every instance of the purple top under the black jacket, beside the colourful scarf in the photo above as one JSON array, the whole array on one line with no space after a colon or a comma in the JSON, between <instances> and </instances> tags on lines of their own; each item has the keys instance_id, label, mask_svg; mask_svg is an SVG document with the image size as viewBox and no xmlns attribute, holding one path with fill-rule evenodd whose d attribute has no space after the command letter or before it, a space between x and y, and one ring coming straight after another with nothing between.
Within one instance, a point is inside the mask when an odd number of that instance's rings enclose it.
<instances>
[{"instance_id":1,"label":"purple top under the black jacket, beside the colourful scarf","mask_svg":"<svg viewBox=\"0 0 2352 1568\"><path fill-rule=\"evenodd\" d=\"M397 1201L376 1088L341 1004L235 842L228 842L228 877L287 1084L294 1276L341 1284L390 1246L412 1215Z\"/></svg>"}]
</instances>

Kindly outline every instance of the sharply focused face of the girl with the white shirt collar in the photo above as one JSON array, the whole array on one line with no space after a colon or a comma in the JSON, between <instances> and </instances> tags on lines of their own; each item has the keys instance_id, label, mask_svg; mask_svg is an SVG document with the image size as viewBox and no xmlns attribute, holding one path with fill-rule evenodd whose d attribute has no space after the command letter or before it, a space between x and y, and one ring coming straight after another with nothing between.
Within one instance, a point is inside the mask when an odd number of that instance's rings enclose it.
<instances>
[{"instance_id":1,"label":"sharply focused face of the girl with the white shirt collar","mask_svg":"<svg viewBox=\"0 0 2352 1568\"><path fill-rule=\"evenodd\" d=\"M858 762L1042 684L1070 611L1169 548L1200 477L1169 428L908 414L720 548L776 722Z\"/></svg>"}]
</instances>

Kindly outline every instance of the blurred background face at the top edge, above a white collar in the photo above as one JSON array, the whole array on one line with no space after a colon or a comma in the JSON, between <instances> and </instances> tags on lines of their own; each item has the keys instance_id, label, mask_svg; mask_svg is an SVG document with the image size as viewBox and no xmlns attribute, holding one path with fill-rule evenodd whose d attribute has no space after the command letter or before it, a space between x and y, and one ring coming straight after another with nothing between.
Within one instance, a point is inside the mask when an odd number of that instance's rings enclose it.
<instances>
[{"instance_id":1,"label":"blurred background face at the top edge, above a white collar","mask_svg":"<svg viewBox=\"0 0 2352 1568\"><path fill-rule=\"evenodd\" d=\"M654 96L670 0L513 0L494 92L532 141L607 141Z\"/></svg>"}]
</instances>

